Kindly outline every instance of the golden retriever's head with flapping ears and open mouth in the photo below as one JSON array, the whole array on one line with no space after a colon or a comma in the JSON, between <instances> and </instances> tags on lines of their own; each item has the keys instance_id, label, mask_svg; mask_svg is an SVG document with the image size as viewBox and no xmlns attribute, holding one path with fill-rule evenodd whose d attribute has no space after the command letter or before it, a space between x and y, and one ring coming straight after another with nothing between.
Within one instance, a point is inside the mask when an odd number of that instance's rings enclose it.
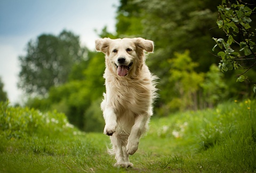
<instances>
[{"instance_id":1,"label":"golden retriever's head with flapping ears and open mouth","mask_svg":"<svg viewBox=\"0 0 256 173\"><path fill-rule=\"evenodd\" d=\"M106 65L111 72L125 77L142 67L144 51L153 52L154 43L143 38L100 38L95 41L95 48L105 53Z\"/></svg>"}]
</instances>

